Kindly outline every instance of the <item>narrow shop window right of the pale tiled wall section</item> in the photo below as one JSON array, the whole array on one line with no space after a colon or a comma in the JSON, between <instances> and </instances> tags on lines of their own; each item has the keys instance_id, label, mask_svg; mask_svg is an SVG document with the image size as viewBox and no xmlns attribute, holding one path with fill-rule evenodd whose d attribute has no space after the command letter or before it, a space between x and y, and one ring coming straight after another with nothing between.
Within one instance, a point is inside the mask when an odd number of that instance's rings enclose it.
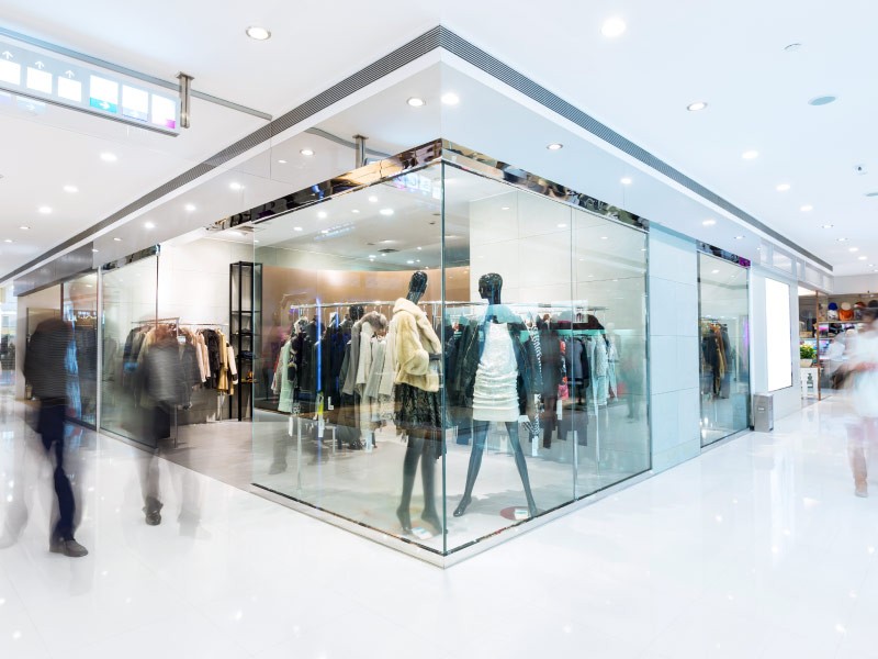
<instances>
[{"instance_id":1,"label":"narrow shop window right of the pale tiled wall section","mask_svg":"<svg viewBox=\"0 0 878 659\"><path fill-rule=\"evenodd\" d=\"M750 423L747 286L745 268L698 255L701 446Z\"/></svg>"}]
</instances>

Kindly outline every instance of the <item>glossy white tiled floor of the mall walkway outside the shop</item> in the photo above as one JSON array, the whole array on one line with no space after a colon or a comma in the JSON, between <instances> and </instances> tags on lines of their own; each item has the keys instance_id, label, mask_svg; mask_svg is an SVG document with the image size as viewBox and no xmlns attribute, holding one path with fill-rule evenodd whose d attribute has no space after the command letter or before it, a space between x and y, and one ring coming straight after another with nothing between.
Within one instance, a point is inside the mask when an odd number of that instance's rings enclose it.
<instances>
[{"instance_id":1,"label":"glossy white tiled floor of the mall walkway outside the shop","mask_svg":"<svg viewBox=\"0 0 878 659\"><path fill-rule=\"evenodd\" d=\"M146 526L135 449L99 438L89 557L46 551L48 473L24 483L0 657L876 657L878 484L854 496L848 414L810 405L446 571L168 462ZM4 499L24 436L7 418Z\"/></svg>"}]
</instances>

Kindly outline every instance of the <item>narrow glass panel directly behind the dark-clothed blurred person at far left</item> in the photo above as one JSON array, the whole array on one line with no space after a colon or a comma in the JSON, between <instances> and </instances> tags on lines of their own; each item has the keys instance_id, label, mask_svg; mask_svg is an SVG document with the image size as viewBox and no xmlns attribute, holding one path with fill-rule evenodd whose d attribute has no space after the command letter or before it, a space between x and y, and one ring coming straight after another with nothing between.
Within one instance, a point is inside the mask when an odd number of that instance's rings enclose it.
<instances>
[{"instance_id":1,"label":"narrow glass panel directly behind the dark-clothed blurred person at far left","mask_svg":"<svg viewBox=\"0 0 878 659\"><path fill-rule=\"evenodd\" d=\"M63 317L74 328L67 359L67 415L94 426L98 423L98 273L61 286Z\"/></svg>"}]
</instances>

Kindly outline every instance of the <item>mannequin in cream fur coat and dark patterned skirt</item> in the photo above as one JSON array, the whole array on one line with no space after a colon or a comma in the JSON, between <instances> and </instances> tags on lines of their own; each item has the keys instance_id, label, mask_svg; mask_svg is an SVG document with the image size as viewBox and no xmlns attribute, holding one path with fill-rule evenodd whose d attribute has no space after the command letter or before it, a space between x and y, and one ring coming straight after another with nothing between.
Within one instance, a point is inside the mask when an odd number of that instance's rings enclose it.
<instances>
[{"instance_id":1,"label":"mannequin in cream fur coat and dark patterned skirt","mask_svg":"<svg viewBox=\"0 0 878 659\"><path fill-rule=\"evenodd\" d=\"M427 314L417 303L427 290L427 273L412 276L408 294L396 301L393 309L392 333L396 345L396 426L408 433L403 459L403 492L396 516L403 529L412 530L410 503L415 474L420 462L424 487L421 521L441 530L436 510L436 459L441 455L442 424L439 401L441 343Z\"/></svg>"}]
</instances>

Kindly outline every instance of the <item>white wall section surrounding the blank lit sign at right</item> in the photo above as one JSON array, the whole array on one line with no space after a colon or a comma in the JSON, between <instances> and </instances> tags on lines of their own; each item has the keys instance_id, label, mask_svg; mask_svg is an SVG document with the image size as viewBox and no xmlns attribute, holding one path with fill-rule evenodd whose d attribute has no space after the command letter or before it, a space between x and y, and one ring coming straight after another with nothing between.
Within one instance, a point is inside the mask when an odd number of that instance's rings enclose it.
<instances>
[{"instance_id":1,"label":"white wall section surrounding the blank lit sign at right","mask_svg":"<svg viewBox=\"0 0 878 659\"><path fill-rule=\"evenodd\" d=\"M792 386L774 391L775 420L792 414L802 406L801 390L799 388L799 294L797 282L786 280L772 272L765 272L757 266L750 273L750 303L751 303L751 392L768 392L768 354L766 346L767 317L765 308L765 280L776 279L789 284L789 314L790 314L790 361L792 364Z\"/></svg>"}]
</instances>

